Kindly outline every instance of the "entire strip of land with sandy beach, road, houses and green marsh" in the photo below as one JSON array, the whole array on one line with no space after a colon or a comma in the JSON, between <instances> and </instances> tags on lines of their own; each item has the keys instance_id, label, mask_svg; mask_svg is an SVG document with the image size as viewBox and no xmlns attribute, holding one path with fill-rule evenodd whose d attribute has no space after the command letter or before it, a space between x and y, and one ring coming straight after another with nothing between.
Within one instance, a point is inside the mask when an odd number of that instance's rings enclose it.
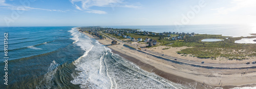
<instances>
[{"instance_id":1,"label":"entire strip of land with sandy beach, road, houses and green marsh","mask_svg":"<svg viewBox=\"0 0 256 89\"><path fill-rule=\"evenodd\" d=\"M224 88L234 87L227 85L241 85L241 81L254 81L246 76L254 75L256 45L234 43L234 41L242 38L256 38L255 36L229 37L185 32L156 33L139 29L102 27L77 27L77 30L95 38L103 46L112 49L113 53L137 64L141 69L154 72L172 81L175 76L179 81L192 79L201 82L196 84L197 87L207 84ZM221 40L201 41L207 38ZM240 77L234 79L229 77L231 75Z\"/></svg>"}]
</instances>

